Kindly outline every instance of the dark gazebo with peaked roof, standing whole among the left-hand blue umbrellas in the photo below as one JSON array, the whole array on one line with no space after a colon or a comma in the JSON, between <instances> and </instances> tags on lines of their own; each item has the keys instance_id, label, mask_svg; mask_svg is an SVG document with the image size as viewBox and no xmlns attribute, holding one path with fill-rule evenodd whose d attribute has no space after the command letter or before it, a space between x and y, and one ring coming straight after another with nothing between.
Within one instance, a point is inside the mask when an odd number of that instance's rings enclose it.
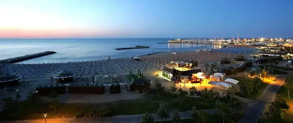
<instances>
[{"instance_id":1,"label":"dark gazebo with peaked roof, standing whole among the left-hand blue umbrellas","mask_svg":"<svg viewBox=\"0 0 293 123\"><path fill-rule=\"evenodd\" d=\"M76 75L77 73L71 73L67 70L63 70L53 75L52 78L56 79L56 84L57 83L71 83L73 81L73 77L75 77L75 82L76 82Z\"/></svg>"}]
</instances>

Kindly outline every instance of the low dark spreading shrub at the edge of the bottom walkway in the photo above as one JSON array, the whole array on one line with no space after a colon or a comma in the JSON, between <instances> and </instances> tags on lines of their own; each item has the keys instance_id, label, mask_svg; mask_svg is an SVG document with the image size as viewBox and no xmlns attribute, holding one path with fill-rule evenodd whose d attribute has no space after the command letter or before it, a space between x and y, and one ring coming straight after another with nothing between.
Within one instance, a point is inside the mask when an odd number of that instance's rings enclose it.
<instances>
[{"instance_id":1,"label":"low dark spreading shrub at the edge of the bottom walkway","mask_svg":"<svg viewBox=\"0 0 293 123\"><path fill-rule=\"evenodd\" d=\"M112 116L111 115L111 111L106 110L106 109L92 109L89 111L84 111L81 113L77 113L75 115L75 118L85 118L85 117L108 117L108 116Z\"/></svg>"}]
</instances>

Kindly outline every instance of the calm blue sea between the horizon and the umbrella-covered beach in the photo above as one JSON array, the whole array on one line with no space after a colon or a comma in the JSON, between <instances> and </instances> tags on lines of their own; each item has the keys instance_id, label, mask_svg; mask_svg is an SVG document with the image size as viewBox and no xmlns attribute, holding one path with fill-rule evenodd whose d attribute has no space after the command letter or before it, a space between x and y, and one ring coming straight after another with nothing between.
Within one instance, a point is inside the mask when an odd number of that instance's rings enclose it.
<instances>
[{"instance_id":1,"label":"calm blue sea between the horizon and the umbrella-covered beach","mask_svg":"<svg viewBox=\"0 0 293 123\"><path fill-rule=\"evenodd\" d=\"M155 52L175 52L201 49L219 49L221 45L203 44L157 44L167 42L168 38L160 39L0 39L0 59L34 54L44 51L55 51L51 54L22 63L56 63L91 61L151 54ZM145 49L115 50L116 48L149 46Z\"/></svg>"}]
</instances>

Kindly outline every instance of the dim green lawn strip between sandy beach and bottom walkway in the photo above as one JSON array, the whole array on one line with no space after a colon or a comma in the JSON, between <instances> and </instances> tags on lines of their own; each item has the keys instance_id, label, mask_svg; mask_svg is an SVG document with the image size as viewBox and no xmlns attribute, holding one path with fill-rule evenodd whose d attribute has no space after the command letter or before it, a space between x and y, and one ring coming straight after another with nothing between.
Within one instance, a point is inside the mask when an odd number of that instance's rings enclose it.
<instances>
[{"instance_id":1,"label":"dim green lawn strip between sandy beach and bottom walkway","mask_svg":"<svg viewBox=\"0 0 293 123\"><path fill-rule=\"evenodd\" d=\"M172 95L172 94L171 94ZM220 98L219 100L224 100ZM160 102L166 103L168 109L172 111L178 108L180 111L191 110L194 105L200 109L214 109L215 100L212 102L208 101L205 105L205 100L203 98L193 98L192 101L190 97L186 97L181 106L181 101L177 98L166 97L157 99L155 92L149 92L143 98L136 100L125 100L117 102L99 103L99 104L61 104L57 114L55 114L53 109L49 108L49 103L44 103L42 101L34 102L35 104L30 104L30 102L17 102L15 104L15 109L13 109L14 117L5 117L5 115L0 114L0 120L33 120L33 119L43 119L43 112L47 112L47 118L71 118L75 117L77 113L89 111L90 109L108 109L111 114L116 115L136 115L143 114L146 111L155 113L159 108Z\"/></svg>"}]
</instances>

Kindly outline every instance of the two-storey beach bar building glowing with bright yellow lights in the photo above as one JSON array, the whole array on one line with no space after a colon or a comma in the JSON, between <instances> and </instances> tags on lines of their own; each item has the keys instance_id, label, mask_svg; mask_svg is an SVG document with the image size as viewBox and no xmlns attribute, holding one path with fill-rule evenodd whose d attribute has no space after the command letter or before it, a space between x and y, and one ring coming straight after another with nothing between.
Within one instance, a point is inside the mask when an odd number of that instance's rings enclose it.
<instances>
[{"instance_id":1,"label":"two-storey beach bar building glowing with bright yellow lights","mask_svg":"<svg viewBox=\"0 0 293 123\"><path fill-rule=\"evenodd\" d=\"M170 62L158 69L158 75L177 83L200 83L207 77L201 73L198 62L194 60Z\"/></svg>"}]
</instances>

